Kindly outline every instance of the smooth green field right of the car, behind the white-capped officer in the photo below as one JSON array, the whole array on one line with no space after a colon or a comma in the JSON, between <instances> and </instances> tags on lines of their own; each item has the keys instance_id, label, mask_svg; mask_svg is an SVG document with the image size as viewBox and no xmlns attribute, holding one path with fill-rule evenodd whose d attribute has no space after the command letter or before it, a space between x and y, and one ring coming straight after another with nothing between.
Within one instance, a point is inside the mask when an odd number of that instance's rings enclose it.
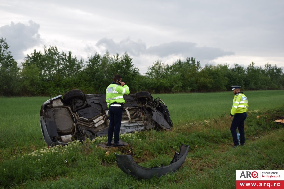
<instances>
[{"instance_id":1,"label":"smooth green field right of the car, behind the white-capped officer","mask_svg":"<svg viewBox=\"0 0 284 189\"><path fill-rule=\"evenodd\" d=\"M249 100L249 111L281 107L284 90L247 91L244 94ZM154 94L160 97L170 111L173 122L194 121L216 118L230 114L233 103L233 92Z\"/></svg>"}]
</instances>

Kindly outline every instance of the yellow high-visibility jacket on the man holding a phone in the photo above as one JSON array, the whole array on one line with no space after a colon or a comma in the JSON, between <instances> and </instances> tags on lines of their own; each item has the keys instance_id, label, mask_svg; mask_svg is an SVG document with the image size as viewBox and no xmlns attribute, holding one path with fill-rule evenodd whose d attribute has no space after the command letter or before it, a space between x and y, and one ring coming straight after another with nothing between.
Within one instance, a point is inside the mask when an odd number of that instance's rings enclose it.
<instances>
[{"instance_id":1,"label":"yellow high-visibility jacket on the man holding a phone","mask_svg":"<svg viewBox=\"0 0 284 189\"><path fill-rule=\"evenodd\" d=\"M128 95L129 88L127 85L121 86L117 84L116 82L112 82L107 88L106 88L106 103L109 108L109 105L117 102L117 103L125 103L125 100L123 98L123 95Z\"/></svg>"}]
</instances>

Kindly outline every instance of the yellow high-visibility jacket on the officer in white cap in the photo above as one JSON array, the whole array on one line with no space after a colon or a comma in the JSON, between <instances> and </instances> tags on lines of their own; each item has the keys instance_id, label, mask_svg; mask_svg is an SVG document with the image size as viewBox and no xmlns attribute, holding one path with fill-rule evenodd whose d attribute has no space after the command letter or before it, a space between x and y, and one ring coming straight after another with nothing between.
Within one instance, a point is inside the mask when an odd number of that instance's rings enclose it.
<instances>
[{"instance_id":1,"label":"yellow high-visibility jacket on the officer in white cap","mask_svg":"<svg viewBox=\"0 0 284 189\"><path fill-rule=\"evenodd\" d=\"M246 112L249 108L249 102L246 95L243 92L237 93L233 98L233 106L231 109L231 116L235 114Z\"/></svg>"}]
</instances>

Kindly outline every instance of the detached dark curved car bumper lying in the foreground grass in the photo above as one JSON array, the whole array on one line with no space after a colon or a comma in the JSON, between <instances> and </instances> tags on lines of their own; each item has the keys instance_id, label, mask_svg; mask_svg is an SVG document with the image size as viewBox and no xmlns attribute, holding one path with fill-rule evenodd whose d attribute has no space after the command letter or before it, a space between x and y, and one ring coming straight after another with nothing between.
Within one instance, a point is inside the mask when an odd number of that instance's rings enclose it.
<instances>
[{"instance_id":1,"label":"detached dark curved car bumper lying in the foreground grass","mask_svg":"<svg viewBox=\"0 0 284 189\"><path fill-rule=\"evenodd\" d=\"M117 160L116 164L124 173L140 179L150 179L154 176L160 177L169 172L178 170L185 161L188 150L189 145L181 144L179 153L175 152L174 158L169 165L150 168L138 165L133 161L131 155L129 154L121 155L114 153L114 155L116 156Z\"/></svg>"}]
</instances>

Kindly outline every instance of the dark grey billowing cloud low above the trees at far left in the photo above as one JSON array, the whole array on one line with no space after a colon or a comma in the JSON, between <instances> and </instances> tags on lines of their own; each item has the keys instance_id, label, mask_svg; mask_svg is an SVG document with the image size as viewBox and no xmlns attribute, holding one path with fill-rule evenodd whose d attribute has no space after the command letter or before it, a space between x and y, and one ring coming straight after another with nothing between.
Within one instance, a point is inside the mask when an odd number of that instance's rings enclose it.
<instances>
[{"instance_id":1,"label":"dark grey billowing cloud low above the trees at far left","mask_svg":"<svg viewBox=\"0 0 284 189\"><path fill-rule=\"evenodd\" d=\"M0 35L6 38L14 59L23 59L23 51L41 44L38 33L39 24L30 20L28 25L11 22L10 25L0 27Z\"/></svg>"}]
</instances>

